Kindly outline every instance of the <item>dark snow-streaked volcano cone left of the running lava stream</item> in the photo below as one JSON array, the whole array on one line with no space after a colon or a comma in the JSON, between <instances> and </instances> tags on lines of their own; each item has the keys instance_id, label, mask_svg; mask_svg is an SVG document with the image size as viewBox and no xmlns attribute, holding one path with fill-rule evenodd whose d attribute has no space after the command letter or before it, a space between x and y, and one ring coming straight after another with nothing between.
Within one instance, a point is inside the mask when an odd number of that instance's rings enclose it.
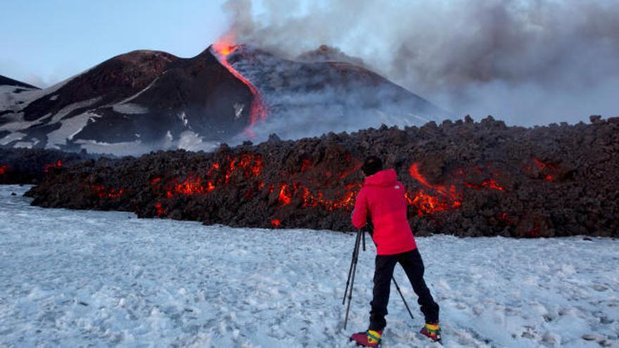
<instances>
[{"instance_id":1,"label":"dark snow-streaked volcano cone left of the running lava stream","mask_svg":"<svg viewBox=\"0 0 619 348\"><path fill-rule=\"evenodd\" d=\"M249 108L236 105L253 95L210 50L186 59L134 51L15 100L0 126L18 136L0 145L143 153L178 146L186 131L212 141L238 134Z\"/></svg>"}]
</instances>

